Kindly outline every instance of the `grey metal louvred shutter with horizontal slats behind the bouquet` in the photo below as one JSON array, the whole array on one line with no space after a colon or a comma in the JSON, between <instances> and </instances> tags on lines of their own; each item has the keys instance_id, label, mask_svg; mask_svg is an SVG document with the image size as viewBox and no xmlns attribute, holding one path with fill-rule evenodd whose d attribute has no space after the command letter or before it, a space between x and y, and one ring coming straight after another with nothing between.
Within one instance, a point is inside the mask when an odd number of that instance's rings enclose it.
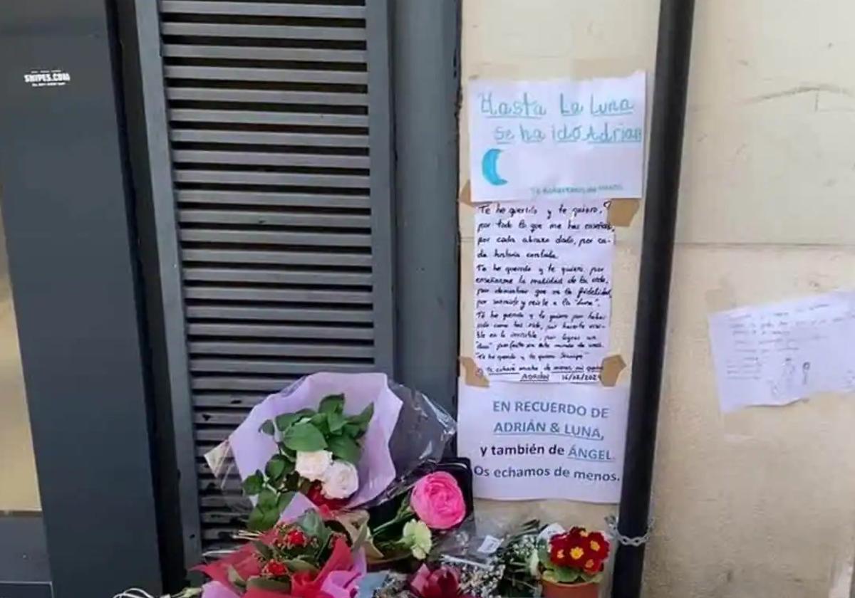
<instances>
[{"instance_id":1,"label":"grey metal louvred shutter with horizontal slats behind the bouquet","mask_svg":"<svg viewBox=\"0 0 855 598\"><path fill-rule=\"evenodd\" d=\"M188 561L238 529L202 455L251 406L310 372L392 372L387 14L386 0L159 2Z\"/></svg>"}]
</instances>

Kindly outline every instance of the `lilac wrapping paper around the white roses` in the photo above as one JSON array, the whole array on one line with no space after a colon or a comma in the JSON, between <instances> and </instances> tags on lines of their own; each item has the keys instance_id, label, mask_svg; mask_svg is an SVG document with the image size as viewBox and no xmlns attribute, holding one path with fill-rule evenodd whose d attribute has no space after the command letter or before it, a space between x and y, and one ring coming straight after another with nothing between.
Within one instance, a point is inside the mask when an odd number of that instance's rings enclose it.
<instances>
[{"instance_id":1,"label":"lilac wrapping paper around the white roses","mask_svg":"<svg viewBox=\"0 0 855 598\"><path fill-rule=\"evenodd\" d=\"M276 452L273 438L258 431L264 421L303 408L316 409L324 396L341 393L345 394L348 415L356 415L374 403L374 417L363 437L363 456L357 465L359 490L351 497L348 507L357 507L386 490L395 478L389 438L398 422L402 403L389 390L386 374L382 373L315 373L299 384L268 396L228 438L240 478L263 471Z\"/></svg>"}]
</instances>

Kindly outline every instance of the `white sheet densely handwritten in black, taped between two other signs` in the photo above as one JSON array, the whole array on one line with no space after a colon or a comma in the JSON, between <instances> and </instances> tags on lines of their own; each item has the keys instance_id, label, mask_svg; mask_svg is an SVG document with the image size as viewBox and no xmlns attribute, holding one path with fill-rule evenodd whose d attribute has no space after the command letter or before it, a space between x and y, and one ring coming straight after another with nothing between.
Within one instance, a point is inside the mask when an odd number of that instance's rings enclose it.
<instances>
[{"instance_id":1,"label":"white sheet densely handwritten in black, taped between two other signs","mask_svg":"<svg viewBox=\"0 0 855 598\"><path fill-rule=\"evenodd\" d=\"M475 361L486 377L597 382L615 237L603 202L489 203L475 215Z\"/></svg>"}]
</instances>

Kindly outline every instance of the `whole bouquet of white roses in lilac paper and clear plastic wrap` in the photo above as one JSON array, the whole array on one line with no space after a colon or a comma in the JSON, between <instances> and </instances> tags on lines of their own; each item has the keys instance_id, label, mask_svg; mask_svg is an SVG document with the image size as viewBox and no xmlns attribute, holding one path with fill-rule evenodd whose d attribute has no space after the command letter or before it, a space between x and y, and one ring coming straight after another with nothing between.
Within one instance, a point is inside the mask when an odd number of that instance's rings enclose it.
<instances>
[{"instance_id":1,"label":"whole bouquet of white roses in lilac paper and clear plastic wrap","mask_svg":"<svg viewBox=\"0 0 855 598\"><path fill-rule=\"evenodd\" d=\"M249 526L263 531L295 493L329 513L398 495L454 432L448 413L385 374L322 372L260 402L205 460L222 488L239 476Z\"/></svg>"}]
</instances>

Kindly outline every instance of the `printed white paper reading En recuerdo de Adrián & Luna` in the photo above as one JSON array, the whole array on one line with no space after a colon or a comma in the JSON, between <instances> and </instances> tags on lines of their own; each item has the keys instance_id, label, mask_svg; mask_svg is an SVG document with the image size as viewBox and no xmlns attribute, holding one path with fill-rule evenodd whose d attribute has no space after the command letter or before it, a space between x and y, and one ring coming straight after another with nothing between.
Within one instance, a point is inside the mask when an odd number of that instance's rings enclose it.
<instances>
[{"instance_id":1,"label":"printed white paper reading En recuerdo de Adri\u00e1n & Luna","mask_svg":"<svg viewBox=\"0 0 855 598\"><path fill-rule=\"evenodd\" d=\"M617 502L629 393L579 384L460 383L458 453L479 498Z\"/></svg>"}]
</instances>

